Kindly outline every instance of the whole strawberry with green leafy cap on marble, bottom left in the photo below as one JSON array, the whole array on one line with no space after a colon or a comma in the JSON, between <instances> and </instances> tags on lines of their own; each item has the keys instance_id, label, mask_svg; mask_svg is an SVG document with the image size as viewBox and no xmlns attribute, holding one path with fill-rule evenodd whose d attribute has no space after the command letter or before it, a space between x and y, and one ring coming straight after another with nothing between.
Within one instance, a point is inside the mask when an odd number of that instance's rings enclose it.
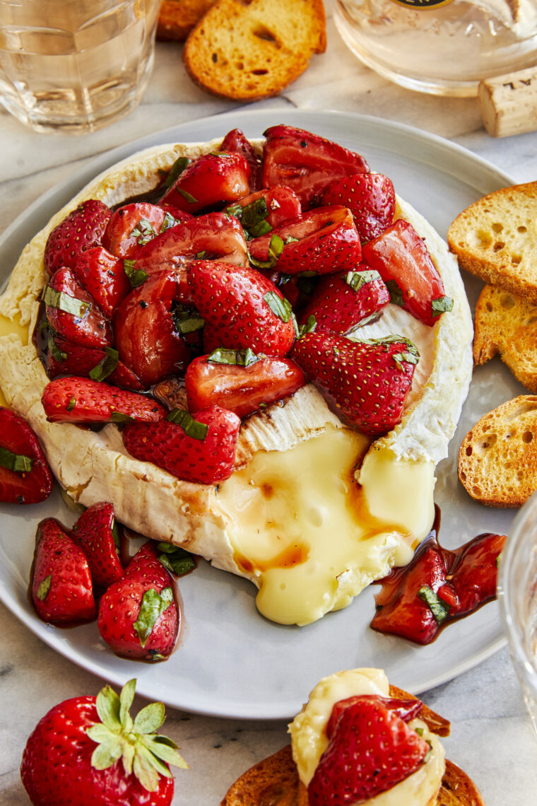
<instances>
[{"instance_id":1,"label":"whole strawberry with green leafy cap on marble, bottom left","mask_svg":"<svg viewBox=\"0 0 537 806\"><path fill-rule=\"evenodd\" d=\"M34 806L170 806L168 765L188 769L175 742L155 731L162 703L130 717L136 680L118 696L105 686L72 697L38 722L23 752L20 775Z\"/></svg>"}]
</instances>

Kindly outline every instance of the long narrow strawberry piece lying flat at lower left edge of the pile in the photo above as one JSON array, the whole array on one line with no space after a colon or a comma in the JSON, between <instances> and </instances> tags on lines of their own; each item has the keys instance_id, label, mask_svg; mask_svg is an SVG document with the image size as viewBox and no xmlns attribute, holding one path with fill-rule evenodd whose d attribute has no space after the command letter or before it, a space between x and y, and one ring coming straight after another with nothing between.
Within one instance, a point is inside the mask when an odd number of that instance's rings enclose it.
<instances>
[{"instance_id":1,"label":"long narrow strawberry piece lying flat at lower left edge of the pile","mask_svg":"<svg viewBox=\"0 0 537 806\"><path fill-rule=\"evenodd\" d=\"M166 417L166 409L152 397L76 376L51 380L41 402L48 422L157 422Z\"/></svg>"}]
</instances>

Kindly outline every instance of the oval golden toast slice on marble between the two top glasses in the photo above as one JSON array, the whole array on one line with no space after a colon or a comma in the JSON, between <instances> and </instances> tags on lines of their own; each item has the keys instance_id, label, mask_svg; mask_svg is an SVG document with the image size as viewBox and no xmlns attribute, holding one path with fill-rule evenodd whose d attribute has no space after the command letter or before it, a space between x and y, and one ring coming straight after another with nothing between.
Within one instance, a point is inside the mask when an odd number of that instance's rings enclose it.
<instances>
[{"instance_id":1,"label":"oval golden toast slice on marble between the two top glasses","mask_svg":"<svg viewBox=\"0 0 537 806\"><path fill-rule=\"evenodd\" d=\"M322 0L217 0L188 36L183 59L210 93L254 101L278 95L325 48Z\"/></svg>"}]
</instances>

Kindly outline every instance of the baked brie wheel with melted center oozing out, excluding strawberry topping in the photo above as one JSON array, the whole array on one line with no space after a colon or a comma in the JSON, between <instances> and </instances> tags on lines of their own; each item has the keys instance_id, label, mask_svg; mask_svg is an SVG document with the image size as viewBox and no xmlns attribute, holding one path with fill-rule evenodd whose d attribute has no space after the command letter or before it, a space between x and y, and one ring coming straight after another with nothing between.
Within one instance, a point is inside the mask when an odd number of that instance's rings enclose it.
<instances>
[{"instance_id":1,"label":"baked brie wheel with melted center oozing out, excluding strawberry topping","mask_svg":"<svg viewBox=\"0 0 537 806\"><path fill-rule=\"evenodd\" d=\"M381 438L350 430L308 384L242 422L228 480L194 484L134 459L114 424L95 431L48 422L41 403L48 376L31 334L48 279L49 233L84 200L117 206L155 188L178 157L214 152L220 143L134 154L96 177L35 235L0 299L0 386L7 405L35 430L73 501L112 502L130 529L251 580L267 618L305 625L349 605L366 585L411 559L432 526L435 467L448 454L468 392L473 330L456 259L411 206L397 197L395 218L425 239L453 306L427 326L390 303L360 329L360 339L403 335L420 354L403 418ZM261 152L262 141L254 147Z\"/></svg>"}]
</instances>

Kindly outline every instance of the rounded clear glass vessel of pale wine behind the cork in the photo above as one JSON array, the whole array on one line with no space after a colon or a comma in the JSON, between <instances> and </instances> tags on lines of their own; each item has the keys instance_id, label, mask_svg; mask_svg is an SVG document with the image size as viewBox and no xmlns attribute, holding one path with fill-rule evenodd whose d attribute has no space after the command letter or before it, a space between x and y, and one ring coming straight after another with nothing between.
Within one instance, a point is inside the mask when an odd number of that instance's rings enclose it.
<instances>
[{"instance_id":1,"label":"rounded clear glass vessel of pale wine behind the cork","mask_svg":"<svg viewBox=\"0 0 537 806\"><path fill-rule=\"evenodd\" d=\"M537 0L336 0L334 19L368 67L426 93L476 95L537 64Z\"/></svg>"}]
</instances>

